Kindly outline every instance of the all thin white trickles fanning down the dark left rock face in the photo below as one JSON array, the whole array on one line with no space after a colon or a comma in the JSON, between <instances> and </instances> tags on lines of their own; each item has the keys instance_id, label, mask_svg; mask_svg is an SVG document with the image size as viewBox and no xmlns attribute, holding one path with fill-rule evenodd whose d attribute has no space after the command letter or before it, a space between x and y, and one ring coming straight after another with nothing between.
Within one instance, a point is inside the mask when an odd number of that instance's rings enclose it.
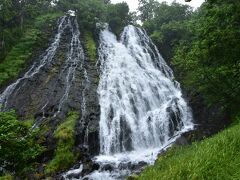
<instances>
[{"instance_id":1,"label":"all thin white trickles fanning down the dark left rock face","mask_svg":"<svg viewBox=\"0 0 240 180\"><path fill-rule=\"evenodd\" d=\"M63 106L67 104L67 100L69 98L69 94L71 91L71 87L74 84L74 81L76 79L76 71L80 69L82 71L84 80L82 81L83 90L82 90L82 103L81 103L81 114L85 114L86 111L86 100L85 100L85 92L87 91L89 80L88 80L88 74L85 69L84 63L85 63L85 55L83 51L83 47L80 42L80 31L79 26L77 22L77 18L74 17L75 14L74 11L69 10L67 12L68 15L62 17L59 20L58 25L58 32L55 35L53 43L50 45L50 47L45 51L42 58L39 60L39 62L35 62L31 68L24 74L23 77L19 78L16 82L9 85L6 90L0 94L0 110L4 111L7 109L8 105L8 99L16 92L22 88L25 85L26 79L32 78L35 74L38 74L41 70L41 68L51 65L51 62L53 61L53 58L57 52L57 49L59 48L59 44L61 42L62 34L69 29L71 32L71 41L69 45L69 50L67 54L67 58L64 62L64 67L60 70L58 74L58 80L62 81L63 84L63 94L62 97L59 99L58 108L53 117L56 117L58 113L61 112L63 109ZM50 92L51 93L51 92ZM35 124L33 125L33 128L38 126L42 120L44 120L45 117L45 111L48 108L49 100L46 101L46 103L42 106L41 111L42 118L38 119ZM82 116L83 117L83 116ZM86 136L86 142L87 142L87 136Z\"/></svg>"}]
</instances>

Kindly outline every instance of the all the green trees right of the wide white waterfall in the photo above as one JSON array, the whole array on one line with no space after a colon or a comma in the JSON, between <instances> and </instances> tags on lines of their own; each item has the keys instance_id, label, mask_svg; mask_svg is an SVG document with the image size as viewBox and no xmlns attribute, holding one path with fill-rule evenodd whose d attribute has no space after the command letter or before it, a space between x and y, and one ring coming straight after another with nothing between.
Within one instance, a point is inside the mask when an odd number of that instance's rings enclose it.
<instances>
[{"instance_id":1,"label":"all the green trees right of the wide white waterfall","mask_svg":"<svg viewBox=\"0 0 240 180\"><path fill-rule=\"evenodd\" d=\"M143 26L178 79L209 106L218 104L228 114L240 104L240 3L206 1L193 12L189 6L141 0Z\"/></svg>"}]
</instances>

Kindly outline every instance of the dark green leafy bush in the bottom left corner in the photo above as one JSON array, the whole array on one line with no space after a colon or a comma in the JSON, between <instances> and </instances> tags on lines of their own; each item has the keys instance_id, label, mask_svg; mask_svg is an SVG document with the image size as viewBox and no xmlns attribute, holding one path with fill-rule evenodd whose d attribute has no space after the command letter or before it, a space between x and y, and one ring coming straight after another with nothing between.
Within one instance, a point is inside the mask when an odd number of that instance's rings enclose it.
<instances>
[{"instance_id":1,"label":"dark green leafy bush in the bottom left corner","mask_svg":"<svg viewBox=\"0 0 240 180\"><path fill-rule=\"evenodd\" d=\"M21 174L44 151L35 142L38 131L31 127L32 123L19 121L14 111L0 113L0 175Z\"/></svg>"}]
</instances>

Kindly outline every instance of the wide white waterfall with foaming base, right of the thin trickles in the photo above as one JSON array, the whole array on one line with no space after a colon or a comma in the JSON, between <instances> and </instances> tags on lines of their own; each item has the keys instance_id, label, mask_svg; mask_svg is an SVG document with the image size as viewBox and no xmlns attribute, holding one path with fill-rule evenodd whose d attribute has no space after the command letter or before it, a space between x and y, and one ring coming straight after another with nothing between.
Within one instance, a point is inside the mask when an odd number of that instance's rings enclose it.
<instances>
[{"instance_id":1,"label":"wide white waterfall with foaming base, right of the thin trickles","mask_svg":"<svg viewBox=\"0 0 240 180\"><path fill-rule=\"evenodd\" d=\"M121 179L129 163L153 163L159 151L193 128L179 84L146 32L129 25L120 41L100 33L100 170L90 179ZM106 171L106 164L112 167Z\"/></svg>"}]
</instances>

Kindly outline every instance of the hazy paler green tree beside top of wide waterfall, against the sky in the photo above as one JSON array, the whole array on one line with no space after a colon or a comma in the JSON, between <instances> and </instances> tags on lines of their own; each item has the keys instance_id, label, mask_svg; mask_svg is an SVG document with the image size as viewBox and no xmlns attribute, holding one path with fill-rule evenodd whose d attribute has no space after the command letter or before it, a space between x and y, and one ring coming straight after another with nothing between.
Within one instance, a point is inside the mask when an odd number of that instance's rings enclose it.
<instances>
[{"instance_id":1,"label":"hazy paler green tree beside top of wide waterfall, against the sky","mask_svg":"<svg viewBox=\"0 0 240 180\"><path fill-rule=\"evenodd\" d=\"M143 27L169 61L179 41L189 37L186 21L192 15L192 8L175 2L168 5L166 2L142 0L139 9L141 19L145 19Z\"/></svg>"}]
</instances>

